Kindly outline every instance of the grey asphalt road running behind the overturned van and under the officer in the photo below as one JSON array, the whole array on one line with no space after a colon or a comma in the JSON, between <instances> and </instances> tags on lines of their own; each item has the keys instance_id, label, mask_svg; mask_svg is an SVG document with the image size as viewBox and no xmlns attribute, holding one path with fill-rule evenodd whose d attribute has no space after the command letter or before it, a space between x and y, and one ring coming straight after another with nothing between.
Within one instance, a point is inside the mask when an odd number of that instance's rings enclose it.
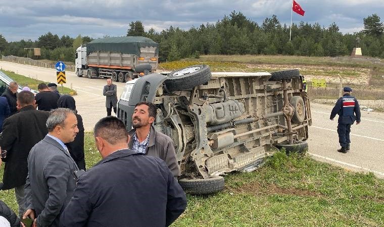
<instances>
[{"instance_id":1,"label":"grey asphalt road running behind the overturned van and under the officer","mask_svg":"<svg viewBox=\"0 0 384 227\"><path fill-rule=\"evenodd\" d=\"M43 81L55 82L56 71L28 65L1 62L0 68ZM94 124L106 116L103 86L105 79L88 79L77 77L73 72L66 72L67 84L77 91L76 107L83 118L86 131L91 131ZM118 97L123 90L123 83L117 84ZM329 120L332 106L311 103L313 125L309 132L309 153L314 158L358 171L371 171L384 178L384 113L362 112L360 125L351 129L351 150L343 154L339 149L337 134L337 117Z\"/></svg>"}]
</instances>

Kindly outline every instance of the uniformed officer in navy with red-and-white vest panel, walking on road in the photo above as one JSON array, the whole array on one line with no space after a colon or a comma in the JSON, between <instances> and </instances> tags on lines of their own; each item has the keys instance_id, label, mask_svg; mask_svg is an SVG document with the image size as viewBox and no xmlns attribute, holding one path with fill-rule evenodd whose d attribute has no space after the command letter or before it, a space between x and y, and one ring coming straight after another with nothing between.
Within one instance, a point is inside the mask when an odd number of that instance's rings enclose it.
<instances>
[{"instance_id":1,"label":"uniformed officer in navy with red-and-white vest panel, walking on road","mask_svg":"<svg viewBox=\"0 0 384 227\"><path fill-rule=\"evenodd\" d=\"M360 124L360 107L357 99L351 96L352 89L350 87L344 87L343 90L344 95L340 97L334 105L329 119L333 121L333 118L337 114L339 115L338 134L341 148L338 151L347 153L350 149L349 144L351 143L349 138L351 126L355 121L356 125Z\"/></svg>"}]
</instances>

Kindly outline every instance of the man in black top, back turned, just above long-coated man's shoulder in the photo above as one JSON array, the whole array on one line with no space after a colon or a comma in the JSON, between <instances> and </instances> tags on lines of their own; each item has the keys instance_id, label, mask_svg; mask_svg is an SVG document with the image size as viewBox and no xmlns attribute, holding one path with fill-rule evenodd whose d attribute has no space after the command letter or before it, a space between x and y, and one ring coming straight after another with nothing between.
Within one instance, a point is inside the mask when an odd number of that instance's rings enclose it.
<instances>
[{"instance_id":1,"label":"man in black top, back turned, just above long-coated man's shoulder","mask_svg":"<svg viewBox=\"0 0 384 227\"><path fill-rule=\"evenodd\" d=\"M37 93L35 97L37 109L46 111L56 109L59 96L48 89L48 86L44 83L37 85L37 89L39 90L39 93Z\"/></svg>"}]
</instances>

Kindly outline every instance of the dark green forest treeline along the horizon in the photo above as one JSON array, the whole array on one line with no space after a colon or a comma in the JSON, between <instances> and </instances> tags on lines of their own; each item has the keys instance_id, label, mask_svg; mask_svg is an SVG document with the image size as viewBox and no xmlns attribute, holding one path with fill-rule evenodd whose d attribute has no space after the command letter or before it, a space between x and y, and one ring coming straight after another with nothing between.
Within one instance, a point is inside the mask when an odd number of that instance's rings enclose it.
<instances>
[{"instance_id":1,"label":"dark green forest treeline along the horizon","mask_svg":"<svg viewBox=\"0 0 384 227\"><path fill-rule=\"evenodd\" d=\"M131 22L127 36L145 36L160 44L159 60L174 61L200 54L284 54L302 56L350 55L359 39L363 55L384 58L384 25L377 14L363 19L364 29L343 34L336 23L328 27L300 22L290 27L273 15L261 25L241 12L233 11L216 23L202 24L188 30L170 27L161 32L145 31L141 21ZM105 37L109 37L106 35ZM78 46L93 40L78 35L75 38L48 32L36 41L7 42L0 34L0 54L25 56L24 47L41 48L41 59L72 61ZM31 55L31 54L29 54Z\"/></svg>"}]
</instances>

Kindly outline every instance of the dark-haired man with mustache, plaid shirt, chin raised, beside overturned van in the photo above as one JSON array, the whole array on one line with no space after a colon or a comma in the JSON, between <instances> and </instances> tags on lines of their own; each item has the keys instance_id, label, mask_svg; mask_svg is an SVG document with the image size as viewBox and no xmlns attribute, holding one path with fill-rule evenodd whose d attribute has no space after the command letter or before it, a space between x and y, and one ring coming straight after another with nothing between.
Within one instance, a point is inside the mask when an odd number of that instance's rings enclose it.
<instances>
[{"instance_id":1,"label":"dark-haired man with mustache, plaid shirt, chin raised, beside overturned van","mask_svg":"<svg viewBox=\"0 0 384 227\"><path fill-rule=\"evenodd\" d=\"M156 132L152 123L156 117L156 105L151 102L136 104L132 115L132 130L128 147L136 152L159 157L167 163L174 177L180 176L172 139Z\"/></svg>"}]
</instances>

